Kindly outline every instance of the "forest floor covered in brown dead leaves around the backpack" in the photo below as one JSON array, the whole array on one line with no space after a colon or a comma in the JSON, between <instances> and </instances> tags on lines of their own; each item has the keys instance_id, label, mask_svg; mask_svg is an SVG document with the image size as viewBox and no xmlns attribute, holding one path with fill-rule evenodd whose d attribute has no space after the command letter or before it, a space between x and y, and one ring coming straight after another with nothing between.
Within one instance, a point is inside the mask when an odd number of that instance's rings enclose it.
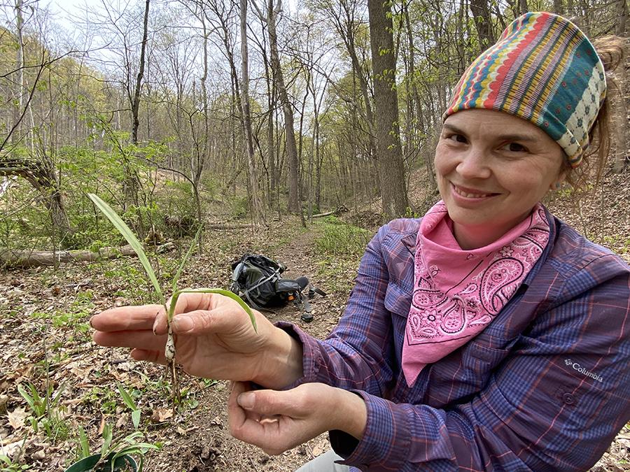
<instances>
[{"instance_id":1,"label":"forest floor covered in brown dead leaves around the backpack","mask_svg":"<svg viewBox=\"0 0 630 472\"><path fill-rule=\"evenodd\" d=\"M415 208L435 199L421 190L412 192ZM549 208L594 241L622 254L630 262L630 183L628 174L605 178L602 189L575 207L560 192ZM377 227L378 212L344 215L344 220L369 231ZM227 287L230 262L245 252L257 252L284 262L287 278L307 276L328 296L311 301L315 319L300 320L293 306L267 313L272 321L288 320L318 338L325 337L344 310L358 266L358 252L330 255L318 245L325 222L302 229L297 220L270 222L268 229L208 231L203 250L193 256L180 286ZM182 244L186 250L186 244ZM328 246L330 249L330 243ZM162 278L173 273L180 255L158 256ZM325 435L285 452L269 456L231 438L223 381L183 377L186 394L174 421L169 417L169 385L165 369L130 360L123 349L100 348L91 341L91 315L146 300L149 287L137 259L62 264L52 268L13 269L0 273L0 454L12 457L14 469L26 464L32 471L64 471L77 455L78 428L83 427L90 449L97 452L104 424L115 438L132 429L130 409L116 387L124 385L141 408L141 430L146 441L161 449L149 452L145 470L172 471L294 471L328 450ZM18 392L31 382L39 394L46 385L58 401L50 401L52 415L41 417L36 433L33 409ZM44 426L46 426L44 428ZM630 471L630 428L617 436L593 471Z\"/></svg>"}]
</instances>

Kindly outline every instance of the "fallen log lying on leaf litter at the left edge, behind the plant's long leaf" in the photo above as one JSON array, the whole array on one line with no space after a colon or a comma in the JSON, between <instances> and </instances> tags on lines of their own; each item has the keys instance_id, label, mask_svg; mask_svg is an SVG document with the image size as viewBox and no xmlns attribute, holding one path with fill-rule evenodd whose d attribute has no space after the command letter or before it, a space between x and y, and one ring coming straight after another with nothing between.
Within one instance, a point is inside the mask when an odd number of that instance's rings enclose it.
<instances>
[{"instance_id":1,"label":"fallen log lying on leaf litter at the left edge, behind the plant's long leaf","mask_svg":"<svg viewBox=\"0 0 630 472\"><path fill-rule=\"evenodd\" d=\"M36 267L52 266L62 262L96 261L98 259L113 259L120 256L135 256L136 252L130 245L121 248L103 248L99 251L90 250L62 250L36 251L0 249L0 267Z\"/></svg>"}]
</instances>

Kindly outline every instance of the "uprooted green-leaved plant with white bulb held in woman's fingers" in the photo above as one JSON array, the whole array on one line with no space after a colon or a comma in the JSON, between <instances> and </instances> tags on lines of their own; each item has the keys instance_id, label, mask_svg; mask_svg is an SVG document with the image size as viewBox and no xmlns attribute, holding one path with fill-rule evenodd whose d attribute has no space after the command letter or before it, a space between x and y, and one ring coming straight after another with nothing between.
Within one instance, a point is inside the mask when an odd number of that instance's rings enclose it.
<instances>
[{"instance_id":1,"label":"uprooted green-leaved plant with white bulb held in woman's fingers","mask_svg":"<svg viewBox=\"0 0 630 472\"><path fill-rule=\"evenodd\" d=\"M123 219L120 218L120 216L118 216L118 213L116 213L116 211L114 211L111 208L111 206L109 206L105 201L100 199L99 196L95 194L87 194L87 196L89 196L90 199L92 199L92 201L94 202L94 205L96 205L97 208L99 208L99 210L101 210L102 213L108 218L108 220L111 221L114 227L116 227L116 229L120 231L120 234L123 235L123 237L127 240L127 243L129 243L131 247L133 248L133 250L136 252L142 266L144 267L144 271L146 271L146 275L148 276L149 280L151 280L151 283L153 284L153 287L155 288L155 293L158 294L160 303L165 307L165 310L167 313L167 325L168 325L168 336L167 336L167 343L165 346L165 357L167 359L168 369L169 369L171 380L172 380L173 408L176 408L176 405L180 401L180 391L179 391L179 377L177 375L177 370L175 368L175 362L174 362L175 339L173 336L171 322L173 320L173 316L175 315L175 306L177 304L177 299L179 298L179 296L185 293L212 293L212 294L221 294L221 295L229 296L231 299L237 301L237 303L239 303L241 308L245 310L245 312L249 315L249 319L251 320L251 324L253 325L254 331L257 331L255 317L251 311L251 308L247 306L247 304L241 299L241 297L238 296L237 294L230 292L229 290L216 289L216 288L195 288L195 289L186 288L186 289L181 289L181 290L177 289L177 281L179 280L179 276L181 276L181 271L183 267L186 265L186 262L188 262L188 258L193 253L195 244L197 243L197 240L201 234L202 227L200 227L200 229L197 230L197 234L195 234L193 243L190 244L190 248L188 248L188 252L186 252L186 255L183 257L183 259L181 260L181 263L179 264L179 269L177 269L177 273L175 274L175 277L172 280L172 295L171 295L170 303L167 306L166 298L164 296L164 293L162 292L162 289L160 288L160 283L158 283L158 278L155 276L153 267L151 267L151 262L149 262L148 257L146 257L144 249L142 248L142 245L140 241L138 241L138 238L135 236L134 232L130 229L130 227L127 226L127 224L125 224Z\"/></svg>"}]
</instances>

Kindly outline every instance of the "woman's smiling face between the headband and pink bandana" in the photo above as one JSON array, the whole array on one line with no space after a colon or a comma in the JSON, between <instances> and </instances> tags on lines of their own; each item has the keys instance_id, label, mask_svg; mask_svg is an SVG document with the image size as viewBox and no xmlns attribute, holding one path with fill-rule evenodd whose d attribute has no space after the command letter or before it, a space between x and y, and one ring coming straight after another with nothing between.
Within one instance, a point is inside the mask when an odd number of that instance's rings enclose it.
<instances>
[{"instance_id":1,"label":"woman's smiling face between the headband and pink bandana","mask_svg":"<svg viewBox=\"0 0 630 472\"><path fill-rule=\"evenodd\" d=\"M447 117L435 172L461 248L488 245L524 220L563 180L564 159L552 138L519 117L484 109Z\"/></svg>"}]
</instances>

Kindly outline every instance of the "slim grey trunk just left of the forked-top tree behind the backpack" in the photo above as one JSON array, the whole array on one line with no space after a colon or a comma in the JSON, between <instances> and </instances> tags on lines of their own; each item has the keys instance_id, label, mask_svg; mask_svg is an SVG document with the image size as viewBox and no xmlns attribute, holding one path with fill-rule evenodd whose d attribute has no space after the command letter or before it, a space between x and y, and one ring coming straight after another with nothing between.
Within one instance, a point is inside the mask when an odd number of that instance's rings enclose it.
<instances>
[{"instance_id":1,"label":"slim grey trunk just left of the forked-top tree behind the backpack","mask_svg":"<svg viewBox=\"0 0 630 472\"><path fill-rule=\"evenodd\" d=\"M243 115L243 128L245 132L245 148L247 150L247 176L251 192L252 220L255 223L264 221L262 205L260 203L260 191L258 189L258 176L256 175L253 138L251 135L251 114L249 110L249 67L247 49L247 0L241 1L241 103Z\"/></svg>"}]
</instances>

